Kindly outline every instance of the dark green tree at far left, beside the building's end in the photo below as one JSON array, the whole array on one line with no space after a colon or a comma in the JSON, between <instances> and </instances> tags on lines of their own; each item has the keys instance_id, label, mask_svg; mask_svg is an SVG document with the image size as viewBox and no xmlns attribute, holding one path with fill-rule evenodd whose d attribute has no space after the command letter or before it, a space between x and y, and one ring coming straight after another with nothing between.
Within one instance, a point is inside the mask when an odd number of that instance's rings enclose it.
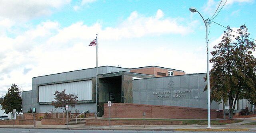
<instances>
[{"instance_id":1,"label":"dark green tree at far left, beside the building's end","mask_svg":"<svg viewBox=\"0 0 256 133\"><path fill-rule=\"evenodd\" d=\"M4 96L2 102L2 109L4 113L8 114L16 109L16 112L20 113L22 110L22 98L20 96L20 88L16 84L12 84L11 88L8 88L7 94Z\"/></svg>"}]
</instances>

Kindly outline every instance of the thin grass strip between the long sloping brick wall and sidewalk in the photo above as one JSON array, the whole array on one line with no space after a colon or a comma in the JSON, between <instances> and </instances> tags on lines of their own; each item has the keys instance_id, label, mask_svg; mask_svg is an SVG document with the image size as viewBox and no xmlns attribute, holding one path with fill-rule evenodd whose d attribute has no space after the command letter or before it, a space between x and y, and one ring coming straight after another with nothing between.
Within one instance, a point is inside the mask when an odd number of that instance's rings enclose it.
<instances>
[{"instance_id":1,"label":"thin grass strip between the long sloping brick wall and sidewalk","mask_svg":"<svg viewBox=\"0 0 256 133\"><path fill-rule=\"evenodd\" d=\"M115 118L111 118L111 119L115 119ZM127 120L143 120L143 119L127 119ZM208 121L207 120L194 120L194 119L145 119L145 121L147 120L152 120L152 121L182 121L183 125L208 125ZM225 124L230 124L230 123L238 123L238 122L242 122L243 120L236 120L236 119L232 119L232 120L228 120L226 119L226 121L224 122L224 120L211 120L211 124L212 125L225 125Z\"/></svg>"}]
</instances>

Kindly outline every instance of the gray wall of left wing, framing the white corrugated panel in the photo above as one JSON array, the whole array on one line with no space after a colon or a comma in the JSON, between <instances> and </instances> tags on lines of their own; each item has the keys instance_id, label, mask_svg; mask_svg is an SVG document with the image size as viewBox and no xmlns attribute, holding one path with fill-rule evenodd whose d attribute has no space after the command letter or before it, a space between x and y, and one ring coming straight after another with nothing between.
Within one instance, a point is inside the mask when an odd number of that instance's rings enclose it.
<instances>
[{"instance_id":1,"label":"gray wall of left wing, framing the white corrugated panel","mask_svg":"<svg viewBox=\"0 0 256 133\"><path fill-rule=\"evenodd\" d=\"M130 72L130 69L113 67L113 66L98 67L98 74L106 74L110 72L119 72L119 71ZM23 93L24 96L22 98L24 98L24 102L25 102L25 104L23 104L23 109L24 111L27 111L30 108L36 108L36 110L42 113L48 110L52 110L52 106L50 104L39 105L38 103L38 86L39 85L73 82L77 80L85 80L85 79L88 80L93 78L94 80L92 80L92 90L93 90L92 102L95 102L95 93L96 93L95 77L96 77L96 68L89 68L89 69L76 70L71 72L63 72L58 74L34 77L32 79L32 91ZM30 95L28 95L28 93ZM46 95L53 95L53 94L46 94ZM91 112L96 112L96 103L83 103L81 105L83 105L81 106L81 110L86 110L88 108L88 109L91 109L90 110Z\"/></svg>"}]
</instances>

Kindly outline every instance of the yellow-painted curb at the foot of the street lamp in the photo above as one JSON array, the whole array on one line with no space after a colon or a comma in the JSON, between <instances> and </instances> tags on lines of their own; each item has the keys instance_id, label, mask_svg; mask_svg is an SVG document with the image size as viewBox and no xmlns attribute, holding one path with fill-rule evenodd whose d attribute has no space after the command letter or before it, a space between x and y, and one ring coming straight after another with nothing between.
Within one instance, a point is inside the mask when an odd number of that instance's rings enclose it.
<instances>
[{"instance_id":1,"label":"yellow-painted curb at the foot of the street lamp","mask_svg":"<svg viewBox=\"0 0 256 133\"><path fill-rule=\"evenodd\" d=\"M249 131L249 129L174 129L174 131Z\"/></svg>"}]
</instances>

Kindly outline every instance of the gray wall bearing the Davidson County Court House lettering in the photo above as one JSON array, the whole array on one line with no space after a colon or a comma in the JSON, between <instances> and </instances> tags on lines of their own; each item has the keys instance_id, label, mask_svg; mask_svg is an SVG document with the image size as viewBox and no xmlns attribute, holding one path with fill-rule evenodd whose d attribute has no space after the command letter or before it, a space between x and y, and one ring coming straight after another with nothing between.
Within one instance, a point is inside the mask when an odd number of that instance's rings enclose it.
<instances>
[{"instance_id":1,"label":"gray wall bearing the Davidson County Court House lettering","mask_svg":"<svg viewBox=\"0 0 256 133\"><path fill-rule=\"evenodd\" d=\"M133 103L207 108L204 76L205 73L133 80ZM218 109L218 104L212 102L211 109Z\"/></svg>"}]
</instances>

